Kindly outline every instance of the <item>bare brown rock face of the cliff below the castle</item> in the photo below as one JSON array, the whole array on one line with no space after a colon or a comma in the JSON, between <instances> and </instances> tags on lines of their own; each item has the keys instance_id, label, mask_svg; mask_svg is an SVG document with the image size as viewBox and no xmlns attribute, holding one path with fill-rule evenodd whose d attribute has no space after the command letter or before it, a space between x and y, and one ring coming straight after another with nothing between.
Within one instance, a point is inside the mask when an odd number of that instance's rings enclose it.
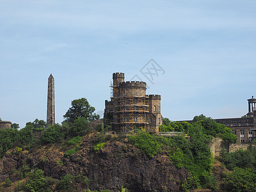
<instances>
[{"instance_id":1,"label":"bare brown rock face of the cliff below the castle","mask_svg":"<svg viewBox=\"0 0 256 192\"><path fill-rule=\"evenodd\" d=\"M43 147L29 154L6 153L0 160L0 180L12 178L11 169L19 169L22 163L38 167L54 179L83 174L90 179L90 189L98 191L118 191L122 186L129 191L180 191L189 176L187 170L176 168L165 154L147 157L127 139L108 141L95 151L92 138L93 135L84 137L81 149L70 157L61 152L60 146Z\"/></svg>"}]
</instances>

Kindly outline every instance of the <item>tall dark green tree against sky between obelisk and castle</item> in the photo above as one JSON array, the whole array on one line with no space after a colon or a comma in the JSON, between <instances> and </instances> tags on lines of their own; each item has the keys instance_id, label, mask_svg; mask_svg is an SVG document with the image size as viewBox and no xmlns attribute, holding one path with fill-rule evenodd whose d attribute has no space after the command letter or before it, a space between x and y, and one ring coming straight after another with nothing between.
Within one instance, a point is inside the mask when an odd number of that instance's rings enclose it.
<instances>
[{"instance_id":1,"label":"tall dark green tree against sky between obelisk and castle","mask_svg":"<svg viewBox=\"0 0 256 192\"><path fill-rule=\"evenodd\" d=\"M85 98L72 100L72 107L68 109L67 113L63 115L65 121L68 123L74 123L78 117L84 117L88 122L99 119L99 115L93 113L95 108L90 106L89 102Z\"/></svg>"}]
</instances>

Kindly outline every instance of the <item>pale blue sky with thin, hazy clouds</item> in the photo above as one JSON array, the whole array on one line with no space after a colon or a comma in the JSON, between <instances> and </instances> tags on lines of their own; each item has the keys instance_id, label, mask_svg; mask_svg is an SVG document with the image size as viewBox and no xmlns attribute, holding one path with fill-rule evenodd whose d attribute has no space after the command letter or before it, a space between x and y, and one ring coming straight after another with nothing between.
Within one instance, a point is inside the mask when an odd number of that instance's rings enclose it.
<instances>
[{"instance_id":1,"label":"pale blue sky with thin, hazy clouds","mask_svg":"<svg viewBox=\"0 0 256 192\"><path fill-rule=\"evenodd\" d=\"M145 81L170 120L241 117L256 97L256 1L0 0L0 118L56 122L74 99L102 116L112 74Z\"/></svg>"}]
</instances>

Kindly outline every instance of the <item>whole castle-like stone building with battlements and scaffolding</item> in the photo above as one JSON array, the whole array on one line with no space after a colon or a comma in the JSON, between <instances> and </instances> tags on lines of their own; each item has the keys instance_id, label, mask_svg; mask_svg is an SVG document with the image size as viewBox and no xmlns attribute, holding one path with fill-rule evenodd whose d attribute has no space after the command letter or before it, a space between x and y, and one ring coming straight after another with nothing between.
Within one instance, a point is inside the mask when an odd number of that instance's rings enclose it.
<instances>
[{"instance_id":1,"label":"whole castle-like stone building with battlements and scaffolding","mask_svg":"<svg viewBox=\"0 0 256 192\"><path fill-rule=\"evenodd\" d=\"M158 132L163 124L161 95L146 95L147 84L124 81L124 73L113 74L111 100L105 100L104 119L118 132Z\"/></svg>"}]
</instances>

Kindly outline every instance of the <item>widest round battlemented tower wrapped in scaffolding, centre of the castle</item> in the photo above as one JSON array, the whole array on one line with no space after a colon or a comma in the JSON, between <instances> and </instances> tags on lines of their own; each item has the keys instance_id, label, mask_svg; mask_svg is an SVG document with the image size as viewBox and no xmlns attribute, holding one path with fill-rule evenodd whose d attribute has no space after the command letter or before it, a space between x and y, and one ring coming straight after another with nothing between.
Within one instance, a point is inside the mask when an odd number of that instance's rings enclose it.
<instances>
[{"instance_id":1,"label":"widest round battlemented tower wrapped in scaffolding, centre of the castle","mask_svg":"<svg viewBox=\"0 0 256 192\"><path fill-rule=\"evenodd\" d=\"M114 123L116 131L134 132L149 128L149 106L146 96L147 84L140 81L122 82L115 97Z\"/></svg>"}]
</instances>

